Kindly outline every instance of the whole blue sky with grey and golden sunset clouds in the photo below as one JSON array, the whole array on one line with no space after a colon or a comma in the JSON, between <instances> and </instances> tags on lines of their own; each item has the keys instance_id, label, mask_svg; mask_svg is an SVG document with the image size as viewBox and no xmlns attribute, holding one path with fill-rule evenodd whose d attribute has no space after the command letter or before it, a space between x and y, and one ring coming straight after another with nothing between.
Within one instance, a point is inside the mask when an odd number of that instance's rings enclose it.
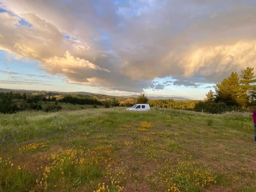
<instances>
[{"instance_id":1,"label":"whole blue sky with grey and golden sunset clouds","mask_svg":"<svg viewBox=\"0 0 256 192\"><path fill-rule=\"evenodd\" d=\"M203 99L256 68L256 0L0 0L0 87Z\"/></svg>"}]
</instances>

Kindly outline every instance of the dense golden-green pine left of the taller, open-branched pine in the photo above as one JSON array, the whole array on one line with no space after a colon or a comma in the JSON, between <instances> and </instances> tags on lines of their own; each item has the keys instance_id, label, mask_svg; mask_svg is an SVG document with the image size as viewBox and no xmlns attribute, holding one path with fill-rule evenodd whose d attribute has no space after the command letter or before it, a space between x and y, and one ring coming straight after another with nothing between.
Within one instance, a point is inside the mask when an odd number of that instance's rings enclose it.
<instances>
[{"instance_id":1,"label":"dense golden-green pine left of the taller, open-branched pine","mask_svg":"<svg viewBox=\"0 0 256 192\"><path fill-rule=\"evenodd\" d=\"M239 76L232 72L230 76L223 79L221 83L216 84L216 102L225 102L227 105L239 105Z\"/></svg>"}]
</instances>

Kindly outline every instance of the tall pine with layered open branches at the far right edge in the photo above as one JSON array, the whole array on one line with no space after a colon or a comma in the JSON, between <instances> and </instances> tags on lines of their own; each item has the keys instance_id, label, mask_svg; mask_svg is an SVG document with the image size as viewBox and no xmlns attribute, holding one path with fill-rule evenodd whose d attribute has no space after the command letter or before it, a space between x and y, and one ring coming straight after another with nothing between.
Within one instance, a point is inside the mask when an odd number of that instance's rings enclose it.
<instances>
[{"instance_id":1,"label":"tall pine with layered open branches at the far right edge","mask_svg":"<svg viewBox=\"0 0 256 192\"><path fill-rule=\"evenodd\" d=\"M242 106L250 105L250 100L253 100L253 90L256 89L256 76L253 72L253 67L247 67L241 71L239 80L239 99L238 102ZM250 98L249 98L250 96Z\"/></svg>"}]
</instances>

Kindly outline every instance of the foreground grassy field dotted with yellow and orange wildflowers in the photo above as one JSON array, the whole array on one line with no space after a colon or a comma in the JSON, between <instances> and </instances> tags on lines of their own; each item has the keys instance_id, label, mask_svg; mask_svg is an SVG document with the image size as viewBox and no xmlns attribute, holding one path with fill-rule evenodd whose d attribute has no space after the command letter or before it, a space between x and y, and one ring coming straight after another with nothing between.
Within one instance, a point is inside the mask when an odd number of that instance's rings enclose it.
<instances>
[{"instance_id":1,"label":"foreground grassy field dotted with yellow and orange wildflowers","mask_svg":"<svg viewBox=\"0 0 256 192\"><path fill-rule=\"evenodd\" d=\"M250 114L0 114L0 191L255 192Z\"/></svg>"}]
</instances>

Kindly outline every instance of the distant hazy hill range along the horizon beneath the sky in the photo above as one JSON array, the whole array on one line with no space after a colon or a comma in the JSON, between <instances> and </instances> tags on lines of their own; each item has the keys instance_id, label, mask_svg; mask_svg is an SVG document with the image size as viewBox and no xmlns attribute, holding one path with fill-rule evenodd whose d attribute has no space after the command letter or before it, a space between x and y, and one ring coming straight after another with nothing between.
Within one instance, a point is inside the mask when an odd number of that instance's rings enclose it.
<instances>
[{"instance_id":1,"label":"distant hazy hill range along the horizon beneath the sky","mask_svg":"<svg viewBox=\"0 0 256 192\"><path fill-rule=\"evenodd\" d=\"M21 92L21 93L58 93L58 94L65 94L65 95L84 95L84 96L96 96L96 97L116 97L116 98L136 98L137 95L130 95L130 96L109 96L105 94L99 94L99 93L90 93L90 92L84 92L84 91L78 91L78 92L58 92L58 91L45 91L45 90L23 90L23 89L5 89L0 88L0 92L9 92L9 91L15 91L15 92ZM173 100L191 100L185 97L179 97L179 96L148 96L149 99L173 99Z\"/></svg>"}]
</instances>

